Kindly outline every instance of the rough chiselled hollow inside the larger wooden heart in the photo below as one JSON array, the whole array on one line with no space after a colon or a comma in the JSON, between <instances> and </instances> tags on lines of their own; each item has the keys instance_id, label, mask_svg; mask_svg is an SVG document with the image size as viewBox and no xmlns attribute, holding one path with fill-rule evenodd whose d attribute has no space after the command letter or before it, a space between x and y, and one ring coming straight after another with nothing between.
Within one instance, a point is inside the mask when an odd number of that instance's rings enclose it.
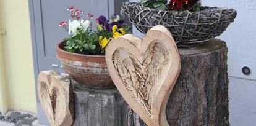
<instances>
[{"instance_id":1,"label":"rough chiselled hollow inside the larger wooden heart","mask_svg":"<svg viewBox=\"0 0 256 126\"><path fill-rule=\"evenodd\" d=\"M122 57L124 54L127 57ZM160 80L160 77L164 77L162 74L168 72L170 60L169 50L157 41L151 42L148 46L142 64L127 50L117 49L113 53L113 64L119 77L149 117L154 117L152 101L155 99L155 90L152 90L153 86Z\"/></svg>"}]
</instances>

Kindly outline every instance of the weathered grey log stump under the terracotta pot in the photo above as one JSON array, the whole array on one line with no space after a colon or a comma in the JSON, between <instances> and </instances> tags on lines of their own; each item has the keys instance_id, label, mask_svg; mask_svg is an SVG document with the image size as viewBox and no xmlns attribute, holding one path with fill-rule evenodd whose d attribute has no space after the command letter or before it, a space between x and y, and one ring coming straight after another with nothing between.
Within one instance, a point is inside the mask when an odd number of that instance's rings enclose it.
<instances>
[{"instance_id":1,"label":"weathered grey log stump under the terracotta pot","mask_svg":"<svg viewBox=\"0 0 256 126\"><path fill-rule=\"evenodd\" d=\"M126 125L130 108L117 89L88 89L74 81L72 84L74 86L73 126Z\"/></svg>"}]
</instances>

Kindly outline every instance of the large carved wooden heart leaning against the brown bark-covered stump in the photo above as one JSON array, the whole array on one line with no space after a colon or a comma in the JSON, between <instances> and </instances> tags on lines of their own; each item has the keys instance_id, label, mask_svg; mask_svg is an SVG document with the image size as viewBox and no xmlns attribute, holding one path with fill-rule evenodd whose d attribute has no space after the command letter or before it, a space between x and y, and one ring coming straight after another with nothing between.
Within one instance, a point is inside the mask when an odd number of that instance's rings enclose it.
<instances>
[{"instance_id":1,"label":"large carved wooden heart leaning against the brown bark-covered stump","mask_svg":"<svg viewBox=\"0 0 256 126\"><path fill-rule=\"evenodd\" d=\"M143 40L117 37L106 49L109 74L122 97L149 126L168 126L166 105L181 69L171 33L162 25Z\"/></svg>"}]
</instances>

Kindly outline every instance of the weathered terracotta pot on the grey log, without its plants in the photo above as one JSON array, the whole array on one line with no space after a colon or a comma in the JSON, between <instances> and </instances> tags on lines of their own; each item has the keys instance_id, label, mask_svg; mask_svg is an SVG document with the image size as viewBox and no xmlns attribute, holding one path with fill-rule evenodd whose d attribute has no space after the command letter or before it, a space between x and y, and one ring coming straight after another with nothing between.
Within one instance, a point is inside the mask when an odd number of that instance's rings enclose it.
<instances>
[{"instance_id":1,"label":"weathered terracotta pot on the grey log, without its plants","mask_svg":"<svg viewBox=\"0 0 256 126\"><path fill-rule=\"evenodd\" d=\"M65 42L56 45L56 54L63 69L79 84L93 89L113 88L114 83L109 76L105 55L83 55L70 53L64 49Z\"/></svg>"}]
</instances>

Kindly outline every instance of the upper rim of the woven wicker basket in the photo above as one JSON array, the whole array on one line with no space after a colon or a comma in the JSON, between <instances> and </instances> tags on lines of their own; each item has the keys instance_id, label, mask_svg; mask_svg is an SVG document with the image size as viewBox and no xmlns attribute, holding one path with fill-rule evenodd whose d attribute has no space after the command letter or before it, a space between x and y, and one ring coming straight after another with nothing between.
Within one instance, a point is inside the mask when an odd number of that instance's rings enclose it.
<instances>
[{"instance_id":1,"label":"upper rim of the woven wicker basket","mask_svg":"<svg viewBox=\"0 0 256 126\"><path fill-rule=\"evenodd\" d=\"M168 12L168 13L172 13L172 14L183 14L183 13L190 13L190 14L197 14L198 12L207 12L210 10L211 12L214 12L214 11L220 11L220 10L227 10L227 11L230 11L230 12L236 12L235 9L228 9L226 7L210 7L210 6L203 6L203 7L208 7L207 9L202 9L202 10L198 10L198 11L189 11L189 10L159 10L159 9L152 9L150 7L143 7L140 2L124 2L124 4L122 5L122 8L124 7L124 5L127 5L127 6L140 6L142 7L141 10L143 9L147 9L147 10L151 10L151 11L156 11L156 12Z\"/></svg>"}]
</instances>

